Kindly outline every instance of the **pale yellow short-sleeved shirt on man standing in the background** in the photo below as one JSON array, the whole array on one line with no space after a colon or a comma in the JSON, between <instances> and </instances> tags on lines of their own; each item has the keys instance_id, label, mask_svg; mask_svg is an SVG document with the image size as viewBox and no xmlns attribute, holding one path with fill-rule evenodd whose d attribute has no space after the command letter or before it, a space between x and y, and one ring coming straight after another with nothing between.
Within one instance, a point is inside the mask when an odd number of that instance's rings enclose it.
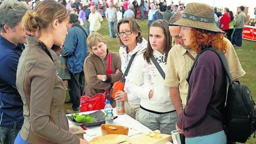
<instances>
[{"instance_id":1,"label":"pale yellow short-sleeved shirt on man standing in the background","mask_svg":"<svg viewBox=\"0 0 256 144\"><path fill-rule=\"evenodd\" d=\"M90 13L88 21L90 22L90 31L98 31L100 29L101 23L103 21L102 16L95 12Z\"/></svg>"}]
</instances>

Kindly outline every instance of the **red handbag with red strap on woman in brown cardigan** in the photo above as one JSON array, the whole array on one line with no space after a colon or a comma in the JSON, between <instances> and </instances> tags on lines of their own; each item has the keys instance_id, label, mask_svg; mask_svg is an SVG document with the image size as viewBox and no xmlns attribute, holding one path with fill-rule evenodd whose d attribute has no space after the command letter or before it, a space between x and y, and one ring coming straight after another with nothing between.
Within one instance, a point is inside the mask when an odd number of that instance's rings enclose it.
<instances>
[{"instance_id":1,"label":"red handbag with red strap on woman in brown cardigan","mask_svg":"<svg viewBox=\"0 0 256 144\"><path fill-rule=\"evenodd\" d=\"M108 58L108 69L106 71L106 74L112 74L111 71L111 54L109 54ZM105 93L98 93L94 95L93 97L89 97L87 95L84 95L85 89L83 90L83 94L80 97L80 112L85 111L95 111L99 109L105 108L105 101L108 97L109 90L105 90Z\"/></svg>"}]
</instances>

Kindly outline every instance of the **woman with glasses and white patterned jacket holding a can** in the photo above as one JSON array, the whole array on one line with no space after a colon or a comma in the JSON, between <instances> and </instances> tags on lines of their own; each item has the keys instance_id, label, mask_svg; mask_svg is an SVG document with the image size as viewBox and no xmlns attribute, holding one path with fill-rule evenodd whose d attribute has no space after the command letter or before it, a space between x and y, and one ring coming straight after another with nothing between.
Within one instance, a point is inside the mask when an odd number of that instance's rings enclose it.
<instances>
[{"instance_id":1,"label":"woman with glasses and white patterned jacket holding a can","mask_svg":"<svg viewBox=\"0 0 256 144\"><path fill-rule=\"evenodd\" d=\"M130 93L127 83L131 72L134 71L134 63L137 56L147 47L147 40L142 37L141 27L133 18L123 18L117 24L118 40L120 43L119 55L121 58L121 71L124 73L132 57L135 56L126 77L124 91L115 94L115 100L125 102L125 113L138 120L140 98ZM135 70L136 71L136 70Z\"/></svg>"}]
</instances>

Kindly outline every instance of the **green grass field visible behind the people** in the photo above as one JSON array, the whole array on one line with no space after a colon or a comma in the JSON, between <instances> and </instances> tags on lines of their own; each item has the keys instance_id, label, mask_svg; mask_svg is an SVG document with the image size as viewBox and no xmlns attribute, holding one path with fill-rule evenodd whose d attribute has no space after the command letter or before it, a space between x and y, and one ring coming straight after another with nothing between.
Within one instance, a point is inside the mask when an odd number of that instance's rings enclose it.
<instances>
[{"instance_id":1,"label":"green grass field visible behind the people","mask_svg":"<svg viewBox=\"0 0 256 144\"><path fill-rule=\"evenodd\" d=\"M147 21L137 20L142 29L143 37L147 40L148 28ZM98 31L101 33L107 41L107 46L110 51L118 52L120 47L117 38L109 37L108 22L104 19L101 29ZM253 94L253 99L256 101L256 42L243 40L242 47L235 47L240 63L246 74L241 78L241 83L246 84ZM71 107L70 104L65 104L66 107ZM246 144L255 144L256 139L253 136L246 142Z\"/></svg>"}]
</instances>

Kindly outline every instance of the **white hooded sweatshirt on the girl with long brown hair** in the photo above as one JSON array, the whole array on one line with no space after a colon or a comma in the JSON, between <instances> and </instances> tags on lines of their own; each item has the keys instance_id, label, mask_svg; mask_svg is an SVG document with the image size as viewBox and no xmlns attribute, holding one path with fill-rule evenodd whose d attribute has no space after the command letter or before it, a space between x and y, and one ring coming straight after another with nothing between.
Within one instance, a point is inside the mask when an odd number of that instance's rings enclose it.
<instances>
[{"instance_id":1,"label":"white hooded sweatshirt on the girl with long brown hair","mask_svg":"<svg viewBox=\"0 0 256 144\"><path fill-rule=\"evenodd\" d=\"M167 58L165 54L154 50L153 55L163 71L166 72ZM156 112L175 110L170 98L169 88L165 86L163 77L152 61L151 64L148 64L144 60L143 54L140 54L136 59L129 86L131 93L141 99L140 105L143 108ZM148 97L150 90L154 91L151 99Z\"/></svg>"}]
</instances>

